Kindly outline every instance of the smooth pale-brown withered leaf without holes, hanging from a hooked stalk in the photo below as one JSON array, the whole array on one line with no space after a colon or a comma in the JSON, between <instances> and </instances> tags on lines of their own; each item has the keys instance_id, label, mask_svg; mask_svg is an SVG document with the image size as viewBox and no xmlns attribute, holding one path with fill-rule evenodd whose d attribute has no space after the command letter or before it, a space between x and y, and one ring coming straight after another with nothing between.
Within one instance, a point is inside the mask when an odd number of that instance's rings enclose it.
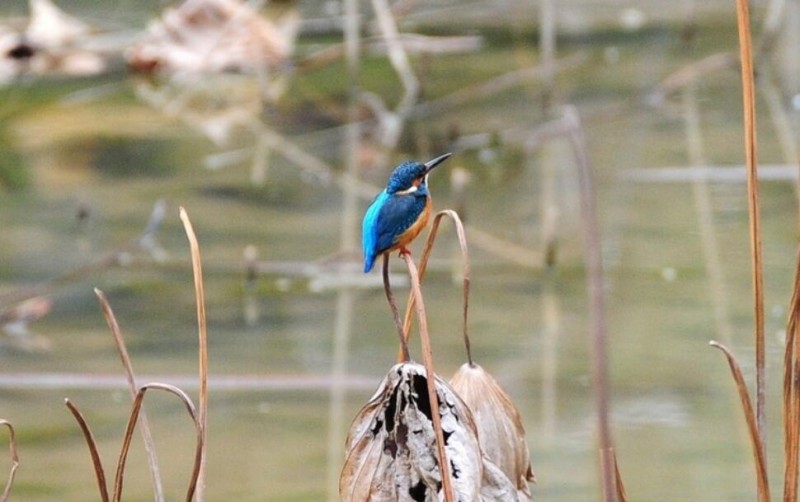
<instances>
[{"instance_id":1,"label":"smooth pale-brown withered leaf without holes, hanging from a hooked stalk","mask_svg":"<svg viewBox=\"0 0 800 502\"><path fill-rule=\"evenodd\" d=\"M528 482L536 482L536 476L522 417L511 398L478 364L463 364L450 385L472 410L483 452L511 479L519 500L533 500Z\"/></svg>"}]
</instances>

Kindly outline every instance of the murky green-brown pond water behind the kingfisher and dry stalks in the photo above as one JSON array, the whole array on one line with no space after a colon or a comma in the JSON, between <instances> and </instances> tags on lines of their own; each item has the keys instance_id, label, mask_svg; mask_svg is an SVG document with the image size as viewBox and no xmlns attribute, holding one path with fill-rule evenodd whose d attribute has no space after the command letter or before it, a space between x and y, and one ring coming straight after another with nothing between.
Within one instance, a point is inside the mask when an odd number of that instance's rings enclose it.
<instances>
[{"instance_id":1,"label":"murky green-brown pond water behind the kingfisher and dry stalks","mask_svg":"<svg viewBox=\"0 0 800 502\"><path fill-rule=\"evenodd\" d=\"M109 2L98 10L76 2L70 12L109 30L136 31L157 4ZM596 500L575 161L564 138L524 147L560 116L560 104L571 104L582 118L595 174L611 427L627 492L633 500L752 500L754 468L734 383L721 354L708 346L712 339L728 345L753 380L738 69L703 75L656 105L645 99L684 65L737 49L732 7L709 4L718 8L696 13L690 41L680 22L648 18L647 10L643 26L620 27L614 19L624 9L615 3L593 7L602 23L571 17L575 23L566 25L573 31L558 39L559 57L567 59L548 114L541 81L523 80L418 114L386 165L369 161L379 156L369 142L375 125L364 122L356 173L362 184L351 189L337 181L348 179L341 146L348 78L341 61L295 71L283 97L263 109L252 78L167 85L134 78L119 61L100 76L24 78L0 88L0 307L35 298L49 309L27 333L1 339L0 418L14 424L21 457L14 498L95 497L91 460L64 398L86 416L107 476L113 473L130 401L93 288L116 313L138 383L173 383L196 399L196 307L178 217L184 207L200 241L207 295L207 499L335 500L349 422L397 350L379 273L359 272L354 235L369 202L365 193L376 193L402 159L452 150L431 186L436 207L458 207L468 223L475 359L520 409L539 479L536 497ZM454 5L437 7L452 12L445 9ZM315 17L315 7L301 6L303 17ZM14 2L0 9L25 12ZM423 101L535 67L532 10L519 7L530 23L510 19L513 12L482 21L464 13L441 25L435 21L441 14L425 22L411 16L415 29L483 40L479 51L411 58ZM310 54L339 40L301 32L297 51ZM389 103L402 95L379 54L361 61L360 84ZM777 494L798 204L796 172L787 166L776 124L793 126L798 117L788 97L778 98L777 108L769 99L769 92L759 94L757 106L759 159L777 166L761 183L768 447ZM249 125L214 136L209 131L218 122L176 113L176 102L200 103L220 122L224 112L246 113ZM469 175L463 191L451 183L459 171ZM355 214L345 210L348 199L356 201ZM163 209L163 220L141 246L154 207ZM464 362L464 349L460 261L454 232L444 226L423 292L436 365L449 376ZM541 266L547 235L557 242L550 268ZM419 256L420 242L413 252ZM260 267L248 279L246 255L253 254ZM393 261L404 299L407 282ZM416 345L412 354L419 359ZM193 429L171 397L150 395L147 413L167 498L178 499L190 473ZM7 465L0 459L0 472ZM125 495L147 500L151 490L136 443Z\"/></svg>"}]
</instances>

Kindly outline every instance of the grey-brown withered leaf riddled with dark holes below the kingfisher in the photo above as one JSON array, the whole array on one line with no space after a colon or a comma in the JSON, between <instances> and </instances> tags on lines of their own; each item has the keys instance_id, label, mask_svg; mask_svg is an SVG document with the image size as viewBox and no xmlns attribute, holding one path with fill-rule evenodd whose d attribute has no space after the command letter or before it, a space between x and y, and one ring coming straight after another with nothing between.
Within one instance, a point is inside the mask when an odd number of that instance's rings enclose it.
<instances>
[{"instance_id":1,"label":"grey-brown withered leaf riddled with dark holes below the kingfisher","mask_svg":"<svg viewBox=\"0 0 800 502\"><path fill-rule=\"evenodd\" d=\"M516 489L483 455L472 414L436 377L439 414L457 500L507 502ZM345 502L439 501L442 487L425 368L393 366L361 409L347 438L339 479Z\"/></svg>"}]
</instances>

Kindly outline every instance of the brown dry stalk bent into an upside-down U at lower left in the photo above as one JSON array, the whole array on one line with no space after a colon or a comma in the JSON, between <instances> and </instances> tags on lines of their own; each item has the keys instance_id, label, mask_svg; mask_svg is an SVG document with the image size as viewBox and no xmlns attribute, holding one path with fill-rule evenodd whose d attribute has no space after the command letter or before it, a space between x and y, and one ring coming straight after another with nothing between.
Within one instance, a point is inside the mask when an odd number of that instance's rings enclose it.
<instances>
[{"instance_id":1,"label":"brown dry stalk bent into an upside-down U at lower left","mask_svg":"<svg viewBox=\"0 0 800 502\"><path fill-rule=\"evenodd\" d=\"M200 486L200 476L202 474L203 468L203 459L205 458L205 437L204 437L204 430L202 422L200 422L200 417L195 411L194 404L192 400L186 395L178 387L174 385L164 384L164 383L149 383L143 385L139 388L139 391L136 393L136 397L133 400L133 407L131 409L130 416L128 417L128 425L125 429L125 437L122 441L122 449L120 450L119 460L117 461L117 472L114 476L114 493L112 497L113 502L120 502L122 500L122 486L123 486L123 479L125 475L125 462L128 458L128 451L130 450L131 440L133 438L133 431L136 428L136 423L138 422L139 413L142 409L142 404L144 403L144 396L149 389L159 389L170 392L175 394L183 401L183 404L186 406L186 410L189 413L189 416L192 419L192 422L195 426L195 431L197 433L197 441L195 443L195 457L194 457L194 466L192 469L192 477L189 480L189 487L186 491L186 502L191 502L196 494L196 490L199 489Z\"/></svg>"}]
</instances>

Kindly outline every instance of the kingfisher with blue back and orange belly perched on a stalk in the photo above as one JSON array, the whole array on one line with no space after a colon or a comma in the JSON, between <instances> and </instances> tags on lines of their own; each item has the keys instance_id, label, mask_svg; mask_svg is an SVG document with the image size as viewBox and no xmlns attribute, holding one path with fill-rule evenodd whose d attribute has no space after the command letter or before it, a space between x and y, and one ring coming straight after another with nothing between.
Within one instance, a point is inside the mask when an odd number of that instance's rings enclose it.
<instances>
[{"instance_id":1,"label":"kingfisher with blue back and orange belly perched on a stalk","mask_svg":"<svg viewBox=\"0 0 800 502\"><path fill-rule=\"evenodd\" d=\"M384 253L396 249L409 252L406 246L425 228L431 215L428 173L451 155L446 153L424 164L406 161L394 168L386 188L372 201L361 223L364 273L372 270L375 259Z\"/></svg>"}]
</instances>

